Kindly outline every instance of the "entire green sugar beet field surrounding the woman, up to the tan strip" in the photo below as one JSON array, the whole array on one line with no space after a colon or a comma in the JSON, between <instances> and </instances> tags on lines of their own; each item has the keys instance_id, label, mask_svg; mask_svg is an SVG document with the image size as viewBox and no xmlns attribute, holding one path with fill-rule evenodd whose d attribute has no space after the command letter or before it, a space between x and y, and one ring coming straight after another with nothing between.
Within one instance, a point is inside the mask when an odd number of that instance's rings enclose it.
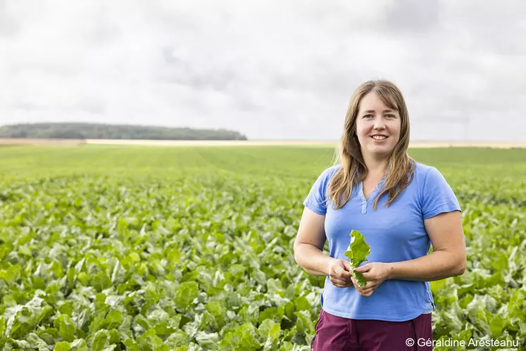
<instances>
[{"instance_id":1,"label":"entire green sugar beet field surrounding the woman, up to the tan strip","mask_svg":"<svg viewBox=\"0 0 526 351\"><path fill-rule=\"evenodd\" d=\"M0 347L309 350L324 277L297 266L292 244L333 153L0 148ZM410 154L463 208L468 266L432 282L434 340L526 350L526 149Z\"/></svg>"}]
</instances>

